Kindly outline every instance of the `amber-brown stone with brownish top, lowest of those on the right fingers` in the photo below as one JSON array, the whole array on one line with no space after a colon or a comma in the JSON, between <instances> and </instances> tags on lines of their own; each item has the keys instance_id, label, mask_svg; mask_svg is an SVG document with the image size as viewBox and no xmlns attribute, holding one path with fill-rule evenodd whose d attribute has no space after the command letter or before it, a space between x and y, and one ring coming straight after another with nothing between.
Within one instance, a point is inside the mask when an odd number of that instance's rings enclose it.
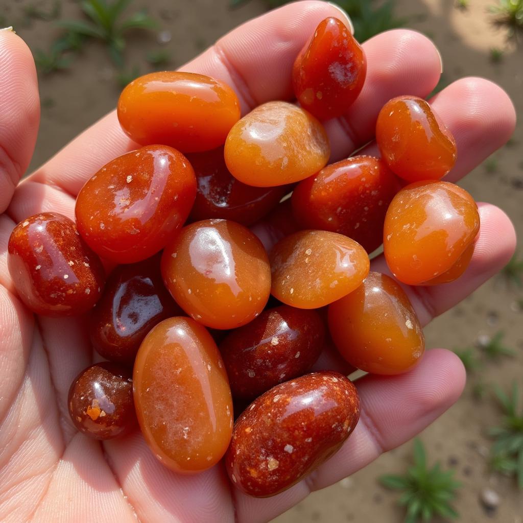
<instances>
[{"instance_id":1,"label":"amber-brown stone with brownish top, lowest of those on the right fingers","mask_svg":"<svg viewBox=\"0 0 523 523\"><path fill-rule=\"evenodd\" d=\"M366 372L406 372L425 350L422 327L407 295L379 272L369 272L355 291L328 306L328 324L339 353Z\"/></svg>"}]
</instances>

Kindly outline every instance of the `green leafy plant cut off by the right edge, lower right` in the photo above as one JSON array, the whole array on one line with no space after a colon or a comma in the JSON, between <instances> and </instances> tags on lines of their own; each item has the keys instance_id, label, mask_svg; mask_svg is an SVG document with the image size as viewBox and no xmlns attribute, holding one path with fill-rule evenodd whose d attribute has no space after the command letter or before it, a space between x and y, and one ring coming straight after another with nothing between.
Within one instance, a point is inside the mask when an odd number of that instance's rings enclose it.
<instances>
[{"instance_id":1,"label":"green leafy plant cut off by the right edge, lower right","mask_svg":"<svg viewBox=\"0 0 523 523\"><path fill-rule=\"evenodd\" d=\"M495 439L490 464L498 472L516 476L519 488L523 488L523 407L519 402L519 387L514 381L510 394L499 387L494 392L504 415L501 426L488 430Z\"/></svg>"}]
</instances>

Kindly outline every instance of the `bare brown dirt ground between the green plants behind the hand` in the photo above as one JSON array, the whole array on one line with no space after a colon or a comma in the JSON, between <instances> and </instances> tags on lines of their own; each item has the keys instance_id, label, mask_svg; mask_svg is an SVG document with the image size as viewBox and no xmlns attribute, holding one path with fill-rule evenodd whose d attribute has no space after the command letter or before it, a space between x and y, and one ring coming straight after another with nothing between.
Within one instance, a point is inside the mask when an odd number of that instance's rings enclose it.
<instances>
[{"instance_id":1,"label":"bare brown dirt ground between the green plants behind the hand","mask_svg":"<svg viewBox=\"0 0 523 523\"><path fill-rule=\"evenodd\" d=\"M444 64L444 81L450 83L465 75L491 78L513 98L518 114L523 114L523 49L507 45L506 31L495 28L487 13L495 0L470 0L466 10L453 0L397 0L396 14L407 18L407 26L424 32L439 47ZM145 2L138 0L140 7ZM0 18L14 25L31 49L47 49L58 35L52 22L27 16L28 6L49 10L52 1L0 0ZM127 69L138 65L140 73L152 70L146 64L146 50L165 49L169 67L177 67L198 54L215 39L242 21L263 13L261 0L252 0L231 10L229 0L150 0L149 13L161 20L163 39L157 33L137 35L129 40ZM61 17L78 18L78 4L62 0ZM490 59L491 48L502 49L501 62ZM120 87L115 69L103 46L89 44L66 72L40 77L42 120L40 135L31 167L47 160L78 132L95 122L115 106ZM505 209L523 233L523 125L521 122L510 141L483 166L467 177L463 187L476 200L490 201ZM506 345L516 350L516 357L484 367L469 376L461 400L422 434L429 461L456 467L462 481L455 506L466 523L523 522L523 493L513 481L488 470L486 456L490 440L487 427L499 422L501 414L488 392L491 384L502 386L523 374L523 292L507 289L501 278L486 283L452 311L440 316L425 329L428 347L467 347L482 336L505 332ZM485 384L486 396L474 399L474 385ZM400 523L403 511L395 504L396 495L382 488L377 476L403 472L410 463L412 444L385 454L365 470L312 494L304 502L280 516L278 523L309 521L355 521ZM486 514L479 497L485 487L493 488L501 503L494 514Z\"/></svg>"}]
</instances>

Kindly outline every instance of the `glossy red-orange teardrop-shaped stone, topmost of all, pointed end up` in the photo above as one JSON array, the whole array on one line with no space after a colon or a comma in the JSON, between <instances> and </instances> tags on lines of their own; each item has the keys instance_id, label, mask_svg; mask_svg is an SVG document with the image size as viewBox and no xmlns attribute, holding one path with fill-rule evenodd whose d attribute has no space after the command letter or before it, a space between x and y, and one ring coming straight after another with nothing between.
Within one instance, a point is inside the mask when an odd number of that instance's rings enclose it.
<instances>
[{"instance_id":1,"label":"glossy red-orange teardrop-shaped stone, topmost of all, pointed end up","mask_svg":"<svg viewBox=\"0 0 523 523\"><path fill-rule=\"evenodd\" d=\"M298 54L292 69L294 94L316 118L342 115L356 100L367 59L350 30L337 18L325 18Z\"/></svg>"}]
</instances>

